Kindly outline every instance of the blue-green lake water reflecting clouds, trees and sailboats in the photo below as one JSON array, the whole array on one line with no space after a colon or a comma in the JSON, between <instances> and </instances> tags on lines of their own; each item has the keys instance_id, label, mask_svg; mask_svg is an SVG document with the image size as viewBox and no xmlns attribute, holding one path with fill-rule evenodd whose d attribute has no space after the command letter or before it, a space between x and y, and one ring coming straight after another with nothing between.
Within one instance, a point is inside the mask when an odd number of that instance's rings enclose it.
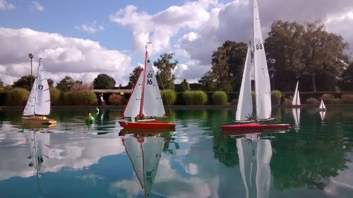
<instances>
[{"instance_id":1,"label":"blue-green lake water reflecting clouds, trees and sailboats","mask_svg":"<svg viewBox=\"0 0 353 198\"><path fill-rule=\"evenodd\" d=\"M0 110L0 197L353 197L353 106L273 109L289 131L243 136L220 130L230 108L174 109L175 131L147 134L109 108L53 109L54 128L21 113Z\"/></svg>"}]
</instances>

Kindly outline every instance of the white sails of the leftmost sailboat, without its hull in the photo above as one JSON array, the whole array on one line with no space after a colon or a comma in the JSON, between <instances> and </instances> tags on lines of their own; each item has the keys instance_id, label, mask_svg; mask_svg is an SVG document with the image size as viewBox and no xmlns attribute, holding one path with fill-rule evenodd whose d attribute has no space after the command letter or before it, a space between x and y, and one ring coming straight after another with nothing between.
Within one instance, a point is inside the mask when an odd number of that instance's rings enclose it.
<instances>
[{"instance_id":1,"label":"white sails of the leftmost sailboat, without its hull","mask_svg":"<svg viewBox=\"0 0 353 198\"><path fill-rule=\"evenodd\" d=\"M49 115L50 113L50 91L47 78L44 75L43 66L38 67L38 76L32 86L30 97L28 98L24 116Z\"/></svg>"}]
</instances>

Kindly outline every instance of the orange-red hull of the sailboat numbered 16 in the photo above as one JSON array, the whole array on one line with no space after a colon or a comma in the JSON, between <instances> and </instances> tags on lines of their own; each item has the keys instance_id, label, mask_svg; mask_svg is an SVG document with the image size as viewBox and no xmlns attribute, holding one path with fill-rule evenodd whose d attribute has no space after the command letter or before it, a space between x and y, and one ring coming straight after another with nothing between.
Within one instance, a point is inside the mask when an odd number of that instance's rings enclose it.
<instances>
[{"instance_id":1,"label":"orange-red hull of the sailboat numbered 16","mask_svg":"<svg viewBox=\"0 0 353 198\"><path fill-rule=\"evenodd\" d=\"M160 120L119 121L119 124L122 128L129 129L175 128L175 123L162 122Z\"/></svg>"}]
</instances>

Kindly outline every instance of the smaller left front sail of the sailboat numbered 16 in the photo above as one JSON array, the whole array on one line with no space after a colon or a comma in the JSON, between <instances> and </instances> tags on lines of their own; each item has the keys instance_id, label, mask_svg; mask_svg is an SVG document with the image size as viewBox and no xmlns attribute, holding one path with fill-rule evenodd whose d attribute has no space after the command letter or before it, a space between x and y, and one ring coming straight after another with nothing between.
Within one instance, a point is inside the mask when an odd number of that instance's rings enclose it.
<instances>
[{"instance_id":1,"label":"smaller left front sail of the sailboat numbered 16","mask_svg":"<svg viewBox=\"0 0 353 198\"><path fill-rule=\"evenodd\" d=\"M140 75L138 75L138 80L135 87L133 87L133 92L131 97L128 99L128 104L123 113L123 117L138 117L140 115L140 105L143 89L143 70L141 70Z\"/></svg>"}]
</instances>

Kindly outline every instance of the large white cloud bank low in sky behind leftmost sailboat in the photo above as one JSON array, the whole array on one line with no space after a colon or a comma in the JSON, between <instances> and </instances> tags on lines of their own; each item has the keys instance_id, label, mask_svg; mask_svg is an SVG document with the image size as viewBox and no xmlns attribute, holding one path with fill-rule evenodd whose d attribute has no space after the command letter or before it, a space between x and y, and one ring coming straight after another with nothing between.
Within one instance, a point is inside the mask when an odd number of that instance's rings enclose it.
<instances>
[{"instance_id":1,"label":"large white cloud bank low in sky behind leftmost sailboat","mask_svg":"<svg viewBox=\"0 0 353 198\"><path fill-rule=\"evenodd\" d=\"M0 27L0 43L0 70L4 71L0 79L4 85L30 75L29 53L35 55L33 71L37 71L37 60L43 58L44 69L55 82L69 75L74 80L90 83L98 74L106 73L117 83L127 84L126 74L133 69L130 56L105 49L88 39Z\"/></svg>"}]
</instances>

